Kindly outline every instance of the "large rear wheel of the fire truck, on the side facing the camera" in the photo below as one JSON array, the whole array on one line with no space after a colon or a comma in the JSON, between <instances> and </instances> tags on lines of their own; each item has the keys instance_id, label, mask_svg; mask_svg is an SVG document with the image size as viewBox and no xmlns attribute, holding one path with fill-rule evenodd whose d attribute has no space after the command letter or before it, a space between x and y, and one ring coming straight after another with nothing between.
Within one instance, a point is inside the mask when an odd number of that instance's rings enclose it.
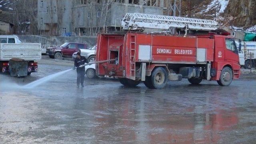
<instances>
[{"instance_id":1,"label":"large rear wheel of the fire truck, on the side facing the camera","mask_svg":"<svg viewBox=\"0 0 256 144\"><path fill-rule=\"evenodd\" d=\"M155 68L151 76L146 76L144 84L148 88L161 89L167 84L168 72L163 67Z\"/></svg>"}]
</instances>

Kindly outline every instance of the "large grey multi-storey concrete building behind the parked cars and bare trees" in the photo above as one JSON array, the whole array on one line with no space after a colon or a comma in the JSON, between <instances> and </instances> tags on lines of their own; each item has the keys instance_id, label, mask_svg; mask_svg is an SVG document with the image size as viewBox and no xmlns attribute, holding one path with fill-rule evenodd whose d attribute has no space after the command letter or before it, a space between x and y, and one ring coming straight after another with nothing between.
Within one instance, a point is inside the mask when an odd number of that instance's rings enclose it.
<instances>
[{"instance_id":1,"label":"large grey multi-storey concrete building behind the parked cars and bare trees","mask_svg":"<svg viewBox=\"0 0 256 144\"><path fill-rule=\"evenodd\" d=\"M126 13L163 14L164 0L38 0L41 34L96 36L120 30Z\"/></svg>"}]
</instances>

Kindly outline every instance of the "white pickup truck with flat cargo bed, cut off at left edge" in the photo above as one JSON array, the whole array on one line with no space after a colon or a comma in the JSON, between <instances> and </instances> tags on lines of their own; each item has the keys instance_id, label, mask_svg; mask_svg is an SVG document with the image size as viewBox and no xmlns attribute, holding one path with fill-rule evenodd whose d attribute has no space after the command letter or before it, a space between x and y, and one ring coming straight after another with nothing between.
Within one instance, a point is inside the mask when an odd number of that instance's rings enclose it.
<instances>
[{"instance_id":1,"label":"white pickup truck with flat cargo bed, cut off at left edge","mask_svg":"<svg viewBox=\"0 0 256 144\"><path fill-rule=\"evenodd\" d=\"M9 60L20 58L28 64L28 75L37 72L35 60L41 59L40 43L22 43L18 36L0 36L0 69L2 73L9 71Z\"/></svg>"}]
</instances>

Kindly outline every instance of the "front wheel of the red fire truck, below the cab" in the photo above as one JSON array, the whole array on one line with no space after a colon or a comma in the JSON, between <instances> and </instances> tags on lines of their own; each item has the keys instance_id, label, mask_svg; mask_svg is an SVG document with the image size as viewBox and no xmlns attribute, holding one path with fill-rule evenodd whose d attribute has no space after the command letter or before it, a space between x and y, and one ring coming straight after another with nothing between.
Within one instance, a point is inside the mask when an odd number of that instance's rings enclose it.
<instances>
[{"instance_id":1,"label":"front wheel of the red fire truck, below the cab","mask_svg":"<svg viewBox=\"0 0 256 144\"><path fill-rule=\"evenodd\" d=\"M217 80L220 86L228 86L233 80L233 72L230 67L224 67L220 73L220 80Z\"/></svg>"}]
</instances>

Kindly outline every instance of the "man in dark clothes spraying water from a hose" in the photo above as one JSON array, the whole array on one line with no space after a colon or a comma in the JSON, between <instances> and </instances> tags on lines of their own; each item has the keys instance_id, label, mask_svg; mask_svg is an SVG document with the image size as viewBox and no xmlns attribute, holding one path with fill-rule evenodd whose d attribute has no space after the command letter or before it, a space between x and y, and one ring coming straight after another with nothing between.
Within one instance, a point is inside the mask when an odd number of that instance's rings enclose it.
<instances>
[{"instance_id":1,"label":"man in dark clothes spraying water from a hose","mask_svg":"<svg viewBox=\"0 0 256 144\"><path fill-rule=\"evenodd\" d=\"M83 67L79 67L79 66L85 63L88 63L88 61L84 56L81 56L80 54L81 52L79 51L74 60L74 66L76 67L76 73L77 73L76 84L77 84L77 87L79 87L79 84L81 83L81 86L84 87L85 68L84 66Z\"/></svg>"}]
</instances>

